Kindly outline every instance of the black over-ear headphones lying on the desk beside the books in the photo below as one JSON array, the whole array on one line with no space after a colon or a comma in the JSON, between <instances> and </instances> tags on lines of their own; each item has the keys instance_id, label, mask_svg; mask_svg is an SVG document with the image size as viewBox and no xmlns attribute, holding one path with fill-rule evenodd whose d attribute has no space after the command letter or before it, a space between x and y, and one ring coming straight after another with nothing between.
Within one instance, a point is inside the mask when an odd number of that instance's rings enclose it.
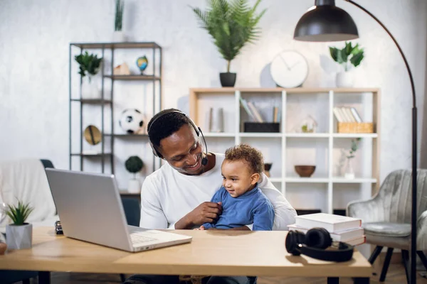
<instances>
[{"instance_id":1,"label":"black over-ear headphones lying on the desk beside the books","mask_svg":"<svg viewBox=\"0 0 427 284\"><path fill-rule=\"evenodd\" d=\"M322 261L349 261L353 257L353 246L339 242L338 250L325 250L332 245L332 239L325 228L313 228L304 234L300 231L289 231L285 246L293 256L304 254Z\"/></svg>"}]
</instances>

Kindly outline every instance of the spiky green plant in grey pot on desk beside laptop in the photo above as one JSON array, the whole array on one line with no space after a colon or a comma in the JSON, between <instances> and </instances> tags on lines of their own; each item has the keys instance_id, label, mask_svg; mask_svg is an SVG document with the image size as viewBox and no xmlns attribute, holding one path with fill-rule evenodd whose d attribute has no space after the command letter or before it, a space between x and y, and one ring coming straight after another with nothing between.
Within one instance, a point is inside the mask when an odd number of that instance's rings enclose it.
<instances>
[{"instance_id":1,"label":"spiky green plant in grey pot on desk beside laptop","mask_svg":"<svg viewBox=\"0 0 427 284\"><path fill-rule=\"evenodd\" d=\"M6 245L8 249L29 249L32 246L33 226L26 219L33 211L29 204L18 201L17 205L6 205L6 215L12 224L6 225Z\"/></svg>"}]
</instances>

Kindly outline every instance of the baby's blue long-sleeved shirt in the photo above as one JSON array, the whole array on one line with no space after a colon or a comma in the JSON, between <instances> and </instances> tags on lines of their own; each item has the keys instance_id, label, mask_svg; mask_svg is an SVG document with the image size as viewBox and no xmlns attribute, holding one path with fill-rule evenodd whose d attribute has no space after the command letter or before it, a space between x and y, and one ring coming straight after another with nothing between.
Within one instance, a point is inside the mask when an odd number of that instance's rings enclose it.
<instances>
[{"instance_id":1,"label":"baby's blue long-sleeved shirt","mask_svg":"<svg viewBox=\"0 0 427 284\"><path fill-rule=\"evenodd\" d=\"M203 224L205 229L231 229L249 224L253 224L253 231L273 228L273 205L258 186L239 197L231 197L225 187L221 187L211 202L222 202L223 212L216 222Z\"/></svg>"}]
</instances>

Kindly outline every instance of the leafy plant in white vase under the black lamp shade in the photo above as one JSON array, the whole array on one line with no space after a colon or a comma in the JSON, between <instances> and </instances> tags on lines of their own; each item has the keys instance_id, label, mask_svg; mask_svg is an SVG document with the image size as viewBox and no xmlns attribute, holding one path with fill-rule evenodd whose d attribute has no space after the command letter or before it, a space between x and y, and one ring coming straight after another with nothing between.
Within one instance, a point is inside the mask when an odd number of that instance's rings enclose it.
<instances>
[{"instance_id":1,"label":"leafy plant in white vase under the black lamp shade","mask_svg":"<svg viewBox=\"0 0 427 284\"><path fill-rule=\"evenodd\" d=\"M345 47L342 49L330 47L332 59L342 66L344 71L338 72L336 77L337 87L352 87L353 78L349 74L352 65L357 67L364 58L364 50L359 47L359 43L352 46L352 43L345 42Z\"/></svg>"}]
</instances>

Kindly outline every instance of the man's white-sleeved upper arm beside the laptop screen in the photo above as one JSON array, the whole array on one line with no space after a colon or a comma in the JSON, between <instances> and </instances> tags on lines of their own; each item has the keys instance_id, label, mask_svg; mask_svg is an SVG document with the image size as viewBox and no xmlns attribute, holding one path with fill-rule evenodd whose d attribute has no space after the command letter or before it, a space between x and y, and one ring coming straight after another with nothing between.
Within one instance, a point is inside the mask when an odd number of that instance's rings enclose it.
<instances>
[{"instance_id":1,"label":"man's white-sleeved upper arm beside the laptop screen","mask_svg":"<svg viewBox=\"0 0 427 284\"><path fill-rule=\"evenodd\" d=\"M156 186L148 176L141 190L141 219L139 226L146 229L167 229L167 219L159 202Z\"/></svg>"}]
</instances>

